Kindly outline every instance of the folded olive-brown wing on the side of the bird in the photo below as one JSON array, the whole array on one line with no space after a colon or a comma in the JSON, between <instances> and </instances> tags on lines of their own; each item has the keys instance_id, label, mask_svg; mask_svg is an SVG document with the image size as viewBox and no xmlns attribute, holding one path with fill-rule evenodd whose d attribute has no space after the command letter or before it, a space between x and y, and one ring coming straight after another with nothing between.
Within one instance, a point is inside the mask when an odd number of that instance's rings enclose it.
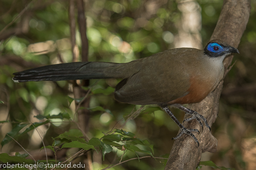
<instances>
[{"instance_id":1,"label":"folded olive-brown wing on the side of the bird","mask_svg":"<svg viewBox=\"0 0 256 170\"><path fill-rule=\"evenodd\" d=\"M116 86L117 101L136 105L163 104L188 94L188 68L170 53L153 55L139 62L139 71Z\"/></svg>"}]
</instances>

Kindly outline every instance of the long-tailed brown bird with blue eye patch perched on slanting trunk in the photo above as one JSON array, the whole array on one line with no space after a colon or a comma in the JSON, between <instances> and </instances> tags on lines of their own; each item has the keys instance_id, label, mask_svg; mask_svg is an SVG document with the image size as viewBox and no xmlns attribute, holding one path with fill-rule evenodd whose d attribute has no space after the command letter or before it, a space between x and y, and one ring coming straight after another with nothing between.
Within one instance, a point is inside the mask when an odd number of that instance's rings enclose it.
<instances>
[{"instance_id":1,"label":"long-tailed brown bird with blue eye patch perched on slanting trunk","mask_svg":"<svg viewBox=\"0 0 256 170\"><path fill-rule=\"evenodd\" d=\"M223 40L214 39L202 50L174 48L127 63L88 61L52 64L13 73L13 80L28 82L121 78L114 90L116 101L134 105L158 105L181 129L173 139L188 134L199 146L192 132L200 132L185 128L168 106L191 115L184 121L196 119L202 128L204 121L210 130L202 115L183 105L202 101L216 88L223 79L223 60L231 53L239 54L239 51Z\"/></svg>"}]
</instances>

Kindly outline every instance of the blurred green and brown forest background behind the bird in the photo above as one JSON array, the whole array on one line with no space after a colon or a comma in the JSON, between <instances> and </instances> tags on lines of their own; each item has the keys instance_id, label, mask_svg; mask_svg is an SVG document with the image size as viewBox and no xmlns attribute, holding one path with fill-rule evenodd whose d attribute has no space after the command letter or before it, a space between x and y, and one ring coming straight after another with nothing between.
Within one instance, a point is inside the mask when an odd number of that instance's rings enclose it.
<instances>
[{"instance_id":1,"label":"blurred green and brown forest background behind the bird","mask_svg":"<svg viewBox=\"0 0 256 170\"><path fill-rule=\"evenodd\" d=\"M0 30L4 29L30 3L29 0L0 1ZM203 48L209 41L221 12L221 0L171 1L171 0L84 0L89 40L89 61L129 62L135 59L177 47ZM219 116L211 133L218 139L216 153L204 153L201 160L212 160L227 168L256 169L256 1L251 1L251 16L235 55L235 65L224 81L220 99ZM0 34L0 139L10 132L15 123L38 122L34 116L56 115L67 112L74 117L75 104L69 106L68 97L72 85L62 82L14 83L12 73L24 69L71 62L68 0L35 0L28 9ZM81 48L77 26L76 44ZM81 49L80 49L81 50ZM79 59L80 60L80 59ZM91 80L93 89L114 87L120 80ZM89 131L91 137L102 137L124 115L139 109L114 100L113 93L90 94L90 108L101 106L111 110L91 111ZM182 121L184 113L173 109ZM76 117L74 118L76 120ZM55 122L55 123L54 123ZM118 123L122 125L124 121ZM76 123L52 119L51 123L38 127L45 145L51 145L59 134L77 128ZM147 139L154 145L154 156L170 153L172 138L178 126L161 110L140 114L122 128ZM17 141L38 159L45 159L39 152L43 146L34 130ZM1 148L2 153L14 155L24 151L16 142ZM58 158L70 157L77 151L72 148L61 152ZM103 161L101 152L92 153L93 169L110 164L116 150ZM50 155L50 154L49 154ZM121 156L122 152L117 152ZM55 156L52 153L52 158ZM50 157L50 156L49 156ZM123 160L134 158L127 152ZM80 161L74 160L74 161ZM152 158L131 160L112 169L163 169L164 161ZM204 169L211 169L203 166Z\"/></svg>"}]
</instances>

